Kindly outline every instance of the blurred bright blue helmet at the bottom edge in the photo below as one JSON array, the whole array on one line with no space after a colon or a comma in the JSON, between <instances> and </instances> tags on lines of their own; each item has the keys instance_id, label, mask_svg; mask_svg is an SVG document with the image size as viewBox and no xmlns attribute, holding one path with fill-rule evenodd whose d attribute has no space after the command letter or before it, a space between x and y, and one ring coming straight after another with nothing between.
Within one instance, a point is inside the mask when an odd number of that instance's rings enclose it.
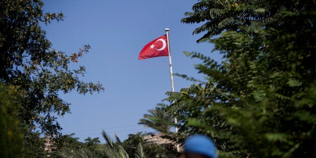
<instances>
[{"instance_id":1,"label":"blurred bright blue helmet at the bottom edge","mask_svg":"<svg viewBox=\"0 0 316 158\"><path fill-rule=\"evenodd\" d=\"M188 137L184 142L184 151L199 153L211 158L217 158L214 142L209 137L202 134Z\"/></svg>"}]
</instances>

